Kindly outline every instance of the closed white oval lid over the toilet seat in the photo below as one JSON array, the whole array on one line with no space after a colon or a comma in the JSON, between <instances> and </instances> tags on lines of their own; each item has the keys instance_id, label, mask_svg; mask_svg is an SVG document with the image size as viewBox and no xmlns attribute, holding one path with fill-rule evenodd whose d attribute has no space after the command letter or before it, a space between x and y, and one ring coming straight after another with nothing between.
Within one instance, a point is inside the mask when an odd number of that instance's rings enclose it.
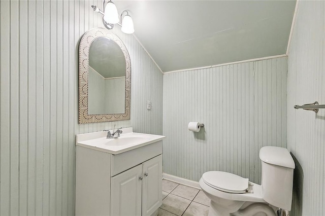
<instances>
[{"instance_id":1,"label":"closed white oval lid over the toilet seat","mask_svg":"<svg viewBox=\"0 0 325 216\"><path fill-rule=\"evenodd\" d=\"M243 178L229 172L209 171L202 175L203 181L219 191L234 194L246 193L248 178Z\"/></svg>"}]
</instances>

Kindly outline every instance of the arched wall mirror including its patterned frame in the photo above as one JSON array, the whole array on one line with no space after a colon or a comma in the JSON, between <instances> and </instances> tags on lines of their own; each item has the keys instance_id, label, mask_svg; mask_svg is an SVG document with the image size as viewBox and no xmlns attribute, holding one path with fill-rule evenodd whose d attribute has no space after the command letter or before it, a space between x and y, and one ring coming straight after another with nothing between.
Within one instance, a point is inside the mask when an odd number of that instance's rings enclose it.
<instances>
[{"instance_id":1,"label":"arched wall mirror including its patterned frame","mask_svg":"<svg viewBox=\"0 0 325 216\"><path fill-rule=\"evenodd\" d=\"M79 124L130 119L131 60L106 28L87 31L79 45Z\"/></svg>"}]
</instances>

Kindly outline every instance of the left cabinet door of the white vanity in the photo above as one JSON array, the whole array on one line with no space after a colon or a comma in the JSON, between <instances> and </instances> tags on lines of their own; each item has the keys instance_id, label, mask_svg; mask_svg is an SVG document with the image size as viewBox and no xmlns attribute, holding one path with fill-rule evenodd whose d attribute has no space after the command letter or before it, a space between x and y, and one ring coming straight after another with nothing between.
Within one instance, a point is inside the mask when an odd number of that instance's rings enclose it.
<instances>
[{"instance_id":1,"label":"left cabinet door of the white vanity","mask_svg":"<svg viewBox=\"0 0 325 216\"><path fill-rule=\"evenodd\" d=\"M141 215L142 165L111 177L111 215Z\"/></svg>"}]
</instances>

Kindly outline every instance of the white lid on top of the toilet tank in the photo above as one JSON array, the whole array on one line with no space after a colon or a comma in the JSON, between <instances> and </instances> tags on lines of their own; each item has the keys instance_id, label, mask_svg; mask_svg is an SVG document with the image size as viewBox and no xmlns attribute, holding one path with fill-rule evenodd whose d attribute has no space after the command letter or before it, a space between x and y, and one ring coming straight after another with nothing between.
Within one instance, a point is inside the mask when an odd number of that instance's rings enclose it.
<instances>
[{"instance_id":1,"label":"white lid on top of the toilet tank","mask_svg":"<svg viewBox=\"0 0 325 216\"><path fill-rule=\"evenodd\" d=\"M259 158L265 163L295 169L295 161L285 148L265 146L259 150Z\"/></svg>"}]
</instances>

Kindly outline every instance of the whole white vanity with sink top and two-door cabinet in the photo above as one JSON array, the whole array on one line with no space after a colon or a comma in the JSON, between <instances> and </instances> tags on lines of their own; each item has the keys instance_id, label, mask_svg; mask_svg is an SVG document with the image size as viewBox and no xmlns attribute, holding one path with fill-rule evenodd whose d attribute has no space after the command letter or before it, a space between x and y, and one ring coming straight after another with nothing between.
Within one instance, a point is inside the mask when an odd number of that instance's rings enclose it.
<instances>
[{"instance_id":1,"label":"whole white vanity with sink top and two-door cabinet","mask_svg":"<svg viewBox=\"0 0 325 216\"><path fill-rule=\"evenodd\" d=\"M123 128L76 135L76 215L151 215L162 199L162 139Z\"/></svg>"}]
</instances>

